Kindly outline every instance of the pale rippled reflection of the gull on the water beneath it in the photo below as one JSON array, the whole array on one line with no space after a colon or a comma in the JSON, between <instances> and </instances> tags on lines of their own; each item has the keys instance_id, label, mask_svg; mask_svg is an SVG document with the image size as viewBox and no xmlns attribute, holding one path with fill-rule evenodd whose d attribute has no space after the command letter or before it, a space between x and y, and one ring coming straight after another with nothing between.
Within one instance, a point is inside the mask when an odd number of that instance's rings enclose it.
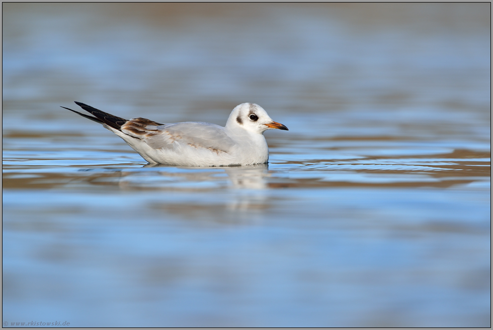
<instances>
[{"instance_id":1,"label":"pale rippled reflection of the gull on the water beneath it","mask_svg":"<svg viewBox=\"0 0 493 330\"><path fill-rule=\"evenodd\" d=\"M200 210L202 218L250 222L271 205L267 192L271 175L268 169L268 164L237 167L147 164L139 169L118 171L118 177L114 178L120 190L155 192L143 207L151 204L182 215ZM199 199L197 192L201 193Z\"/></svg>"}]
</instances>

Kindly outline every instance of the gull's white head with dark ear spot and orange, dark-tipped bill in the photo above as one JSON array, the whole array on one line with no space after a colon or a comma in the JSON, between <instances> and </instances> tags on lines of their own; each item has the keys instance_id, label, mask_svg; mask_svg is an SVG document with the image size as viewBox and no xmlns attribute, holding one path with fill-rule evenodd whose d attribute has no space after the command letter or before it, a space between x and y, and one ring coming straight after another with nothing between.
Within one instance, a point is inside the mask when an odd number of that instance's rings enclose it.
<instances>
[{"instance_id":1,"label":"gull's white head with dark ear spot and orange, dark-tipped bill","mask_svg":"<svg viewBox=\"0 0 493 330\"><path fill-rule=\"evenodd\" d=\"M255 103L242 103L236 106L226 123L227 129L243 129L248 132L263 134L267 130L285 130L288 128L274 122L267 112Z\"/></svg>"}]
</instances>

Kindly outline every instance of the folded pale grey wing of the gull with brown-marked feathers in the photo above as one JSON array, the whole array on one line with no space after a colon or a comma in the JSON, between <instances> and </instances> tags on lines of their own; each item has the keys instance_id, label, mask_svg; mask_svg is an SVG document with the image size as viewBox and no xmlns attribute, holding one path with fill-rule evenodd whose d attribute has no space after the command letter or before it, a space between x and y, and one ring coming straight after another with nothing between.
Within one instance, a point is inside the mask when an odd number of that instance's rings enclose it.
<instances>
[{"instance_id":1,"label":"folded pale grey wing of the gull with brown-marked feathers","mask_svg":"<svg viewBox=\"0 0 493 330\"><path fill-rule=\"evenodd\" d=\"M209 123L162 125L145 118L135 118L122 125L121 131L144 141L153 149L171 149L181 145L227 153L234 145L223 127Z\"/></svg>"}]
</instances>

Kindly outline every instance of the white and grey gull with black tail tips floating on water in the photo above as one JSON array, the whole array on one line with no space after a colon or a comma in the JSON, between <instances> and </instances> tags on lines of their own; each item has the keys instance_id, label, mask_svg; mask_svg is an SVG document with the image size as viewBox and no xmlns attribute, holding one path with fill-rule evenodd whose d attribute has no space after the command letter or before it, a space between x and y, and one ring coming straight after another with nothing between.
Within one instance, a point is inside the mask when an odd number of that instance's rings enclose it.
<instances>
[{"instance_id":1,"label":"white and grey gull with black tail tips floating on water","mask_svg":"<svg viewBox=\"0 0 493 330\"><path fill-rule=\"evenodd\" d=\"M288 131L274 122L255 103L236 106L222 127L203 122L160 124L146 118L126 120L77 102L93 116L70 110L100 123L122 138L149 164L175 166L241 166L264 164L269 149L264 132L271 129Z\"/></svg>"}]
</instances>

